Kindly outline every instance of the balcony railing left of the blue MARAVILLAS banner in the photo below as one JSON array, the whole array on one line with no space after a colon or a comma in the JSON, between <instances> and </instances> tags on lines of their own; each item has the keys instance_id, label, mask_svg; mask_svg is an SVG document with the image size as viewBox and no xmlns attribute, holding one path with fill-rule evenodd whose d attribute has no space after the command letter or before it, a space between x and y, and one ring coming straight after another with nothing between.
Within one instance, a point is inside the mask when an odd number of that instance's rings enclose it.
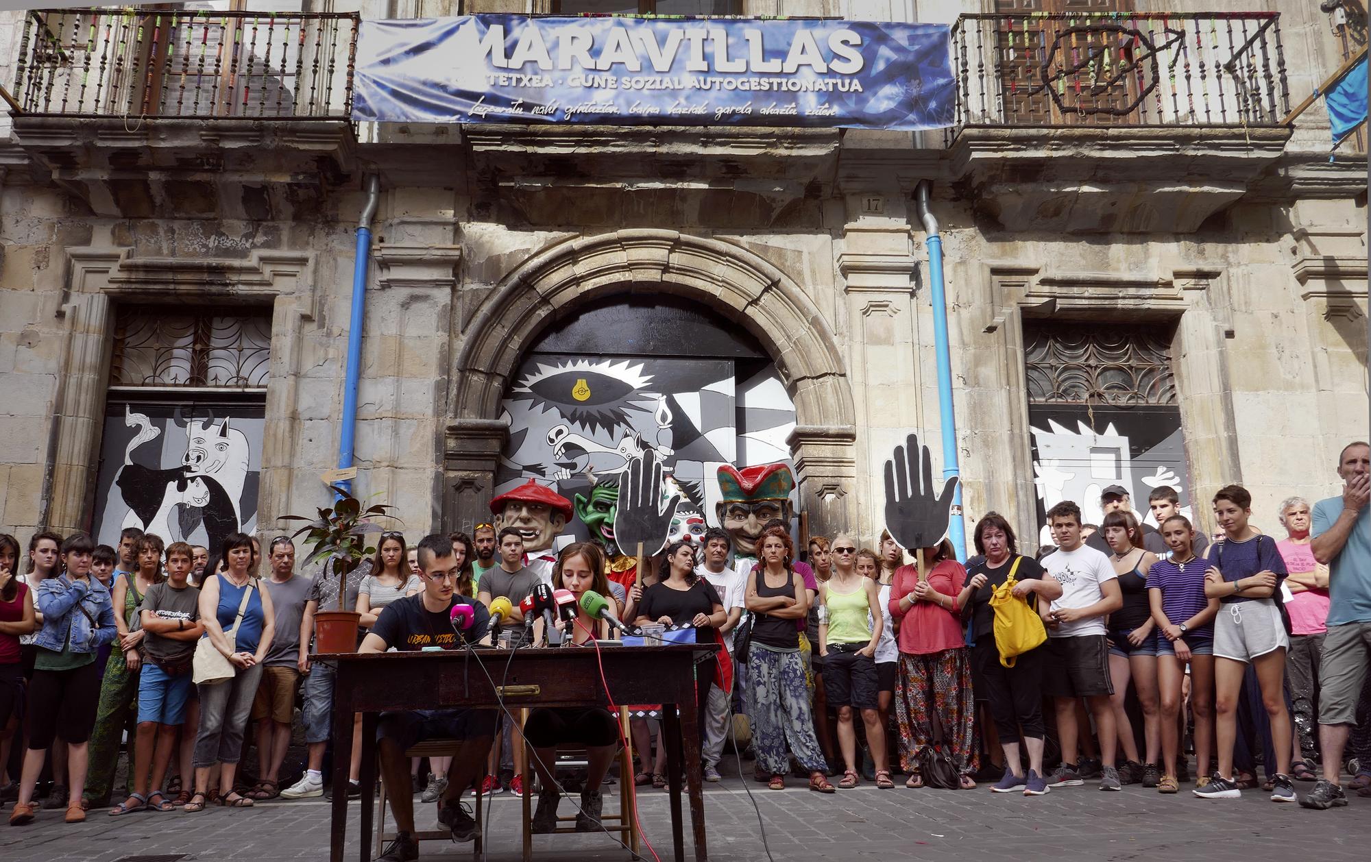
<instances>
[{"instance_id":1,"label":"balcony railing left of the blue MARAVILLAS banner","mask_svg":"<svg viewBox=\"0 0 1371 862\"><path fill-rule=\"evenodd\" d=\"M41 10L25 18L19 114L345 119L355 14Z\"/></svg>"}]
</instances>

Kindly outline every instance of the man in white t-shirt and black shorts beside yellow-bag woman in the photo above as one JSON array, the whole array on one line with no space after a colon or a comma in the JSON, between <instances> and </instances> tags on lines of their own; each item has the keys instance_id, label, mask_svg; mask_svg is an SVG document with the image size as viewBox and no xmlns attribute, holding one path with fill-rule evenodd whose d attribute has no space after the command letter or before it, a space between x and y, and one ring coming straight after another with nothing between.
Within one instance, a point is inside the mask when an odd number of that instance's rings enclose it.
<instances>
[{"instance_id":1,"label":"man in white t-shirt and black shorts beside yellow-bag woman","mask_svg":"<svg viewBox=\"0 0 1371 862\"><path fill-rule=\"evenodd\" d=\"M1109 678L1104 618L1123 607L1123 591L1109 558L1082 543L1079 506L1067 500L1057 503L1047 513L1047 525L1057 541L1057 552L1045 556L1042 566L1061 584L1061 598L1043 611L1050 661L1042 682L1043 689L1056 700L1057 736L1061 741L1061 766L1047 778L1047 784L1075 787L1084 783L1076 769L1076 699L1084 698L1100 735L1100 758L1104 763L1100 789L1117 791L1117 740L1113 709L1109 704L1113 684Z\"/></svg>"}]
</instances>

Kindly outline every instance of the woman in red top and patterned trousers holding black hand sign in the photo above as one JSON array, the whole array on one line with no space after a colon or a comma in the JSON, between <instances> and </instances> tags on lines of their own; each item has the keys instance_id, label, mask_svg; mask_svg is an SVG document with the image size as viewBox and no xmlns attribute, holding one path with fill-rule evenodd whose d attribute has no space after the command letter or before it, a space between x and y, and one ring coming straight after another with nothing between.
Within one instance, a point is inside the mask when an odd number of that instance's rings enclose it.
<instances>
[{"instance_id":1,"label":"woman in red top and patterned trousers holding black hand sign","mask_svg":"<svg viewBox=\"0 0 1371 862\"><path fill-rule=\"evenodd\" d=\"M919 755L934 740L934 715L942 724L943 744L951 750L961 789L976 783L971 693L971 661L961 632L961 607L971 596L967 570L946 539L924 548L927 578L917 566L895 570L890 587L890 615L899 622L899 678L895 718L899 722L899 765L909 773L905 787L924 785Z\"/></svg>"}]
</instances>

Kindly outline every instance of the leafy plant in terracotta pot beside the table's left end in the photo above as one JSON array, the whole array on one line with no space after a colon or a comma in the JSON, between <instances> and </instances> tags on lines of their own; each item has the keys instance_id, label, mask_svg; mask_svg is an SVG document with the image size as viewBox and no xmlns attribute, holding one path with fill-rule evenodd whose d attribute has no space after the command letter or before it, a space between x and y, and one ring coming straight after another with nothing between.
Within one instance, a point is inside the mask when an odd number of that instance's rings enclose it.
<instances>
[{"instance_id":1,"label":"leafy plant in terracotta pot beside the table's left end","mask_svg":"<svg viewBox=\"0 0 1371 862\"><path fill-rule=\"evenodd\" d=\"M318 610L314 614L314 641L319 652L352 652L356 650L356 633L362 615L347 607L347 577L373 556L376 548L366 544L366 534L380 532L373 518L399 521L389 511L393 506L377 503L362 508L362 502L340 485L329 485L335 493L333 506L318 510L318 517L282 515L282 521L304 521L304 526L293 537L304 536L310 547L302 567L324 561L318 577L339 580L337 610Z\"/></svg>"}]
</instances>

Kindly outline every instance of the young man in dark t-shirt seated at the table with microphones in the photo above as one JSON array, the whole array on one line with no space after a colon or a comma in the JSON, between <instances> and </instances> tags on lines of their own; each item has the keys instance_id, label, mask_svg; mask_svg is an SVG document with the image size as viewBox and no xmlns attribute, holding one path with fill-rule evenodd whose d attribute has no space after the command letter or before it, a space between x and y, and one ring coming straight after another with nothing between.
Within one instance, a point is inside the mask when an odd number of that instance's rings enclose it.
<instances>
[{"instance_id":1,"label":"young man in dark t-shirt seated at the table with microphones","mask_svg":"<svg viewBox=\"0 0 1371 862\"><path fill-rule=\"evenodd\" d=\"M485 636L489 611L469 596L457 595L461 566L452 554L452 540L437 533L425 536L418 544L420 577L424 592L396 599L381 611L372 632L362 641L361 652L420 651L425 647L461 650L452 630L451 610L455 604L469 604L474 624L461 637L476 643ZM459 739L462 747L452 758L447 789L439 799L437 820L452 830L454 841L472 841L480 835L480 825L461 804L462 791L480 776L495 733L494 710L439 709L381 713L376 728L376 744L381 778L398 788L389 796L395 817L396 837L377 862L409 862L418 859L420 846L414 835L414 796L410 788L410 761L404 752L426 739Z\"/></svg>"}]
</instances>

